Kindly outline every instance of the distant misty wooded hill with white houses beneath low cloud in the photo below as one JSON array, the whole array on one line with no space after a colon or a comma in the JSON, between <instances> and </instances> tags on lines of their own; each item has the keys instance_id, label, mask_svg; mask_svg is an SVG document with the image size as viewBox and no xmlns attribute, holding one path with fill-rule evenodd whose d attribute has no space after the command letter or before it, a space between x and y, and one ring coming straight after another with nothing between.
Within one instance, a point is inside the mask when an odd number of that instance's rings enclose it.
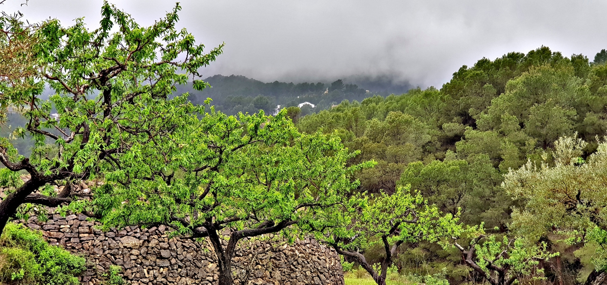
<instances>
[{"instance_id":1,"label":"distant misty wooded hill with white houses beneath low cloud","mask_svg":"<svg viewBox=\"0 0 607 285\"><path fill-rule=\"evenodd\" d=\"M373 95L387 96L401 94L412 89L412 85L395 82L388 77L352 77L337 79L333 82L262 82L242 75L214 75L205 79L211 88L197 91L190 85L177 87L177 94L189 92L189 99L195 104L203 104L206 98L212 98L216 109L229 115L238 112L273 112L276 106L297 106L310 102L313 109L304 113L329 109L343 100L362 101ZM359 85L360 84L360 85Z\"/></svg>"}]
</instances>

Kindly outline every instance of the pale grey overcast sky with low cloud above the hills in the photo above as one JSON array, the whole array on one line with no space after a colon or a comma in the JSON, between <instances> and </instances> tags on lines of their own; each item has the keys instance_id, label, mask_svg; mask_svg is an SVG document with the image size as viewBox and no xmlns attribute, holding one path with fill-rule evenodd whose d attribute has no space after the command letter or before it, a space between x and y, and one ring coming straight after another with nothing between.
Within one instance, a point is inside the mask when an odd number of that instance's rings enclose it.
<instances>
[{"instance_id":1,"label":"pale grey overcast sky with low cloud above the hills","mask_svg":"<svg viewBox=\"0 0 607 285\"><path fill-rule=\"evenodd\" d=\"M5 12L100 20L102 1L7 0ZM110 1L151 24L174 2ZM461 65L541 45L583 53L607 49L607 1L181 1L180 25L207 47L226 43L206 75L262 81L388 76L441 86Z\"/></svg>"}]
</instances>

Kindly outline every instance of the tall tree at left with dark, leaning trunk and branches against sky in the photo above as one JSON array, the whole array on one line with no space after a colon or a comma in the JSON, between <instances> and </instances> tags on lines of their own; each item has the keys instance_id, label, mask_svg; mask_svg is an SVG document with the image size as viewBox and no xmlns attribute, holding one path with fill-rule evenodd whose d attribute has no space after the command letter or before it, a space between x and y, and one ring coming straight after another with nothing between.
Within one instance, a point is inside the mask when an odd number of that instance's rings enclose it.
<instances>
[{"instance_id":1,"label":"tall tree at left with dark, leaning trunk and branches against sky","mask_svg":"<svg viewBox=\"0 0 607 285\"><path fill-rule=\"evenodd\" d=\"M176 84L191 79L196 89L205 87L196 79L197 70L214 61L223 45L203 52L204 45L196 44L194 36L176 29L178 10L176 5L149 27L107 2L95 30L87 29L83 19L69 27L50 19L36 29L27 29L16 18L3 20L22 38L35 39L22 52L35 70L28 73L29 87L0 84L11 95L5 102L27 119L13 135L32 136L35 146L25 157L12 141L0 139L0 163L5 166L0 182L10 187L0 203L0 232L19 207L55 207L87 195L75 187L82 179L145 169L137 163L137 157L149 155L141 146L152 151L150 146L162 145L172 132L195 121L203 107L172 92ZM0 36L0 52L10 47L10 35L5 31ZM43 94L46 84L54 92L48 98ZM57 193L55 186L63 190Z\"/></svg>"}]
</instances>

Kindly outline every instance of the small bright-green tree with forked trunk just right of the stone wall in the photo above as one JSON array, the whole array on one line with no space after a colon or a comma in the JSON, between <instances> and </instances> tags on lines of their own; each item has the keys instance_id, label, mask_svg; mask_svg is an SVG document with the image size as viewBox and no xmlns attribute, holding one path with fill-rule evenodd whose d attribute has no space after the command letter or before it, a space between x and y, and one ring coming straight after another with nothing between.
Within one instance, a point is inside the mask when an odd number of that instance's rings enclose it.
<instances>
[{"instance_id":1,"label":"small bright-green tree with forked trunk just right of the stone wall","mask_svg":"<svg viewBox=\"0 0 607 285\"><path fill-rule=\"evenodd\" d=\"M410 186L399 186L392 195L381 193L368 199L363 198L367 203L351 203L350 207L331 213L336 216L333 221L344 224L325 226L318 235L337 253L359 263L378 285L385 285L388 267L402 244L442 242L461 230L458 216L441 213ZM363 254L373 244L384 247L379 266L369 263Z\"/></svg>"}]
</instances>

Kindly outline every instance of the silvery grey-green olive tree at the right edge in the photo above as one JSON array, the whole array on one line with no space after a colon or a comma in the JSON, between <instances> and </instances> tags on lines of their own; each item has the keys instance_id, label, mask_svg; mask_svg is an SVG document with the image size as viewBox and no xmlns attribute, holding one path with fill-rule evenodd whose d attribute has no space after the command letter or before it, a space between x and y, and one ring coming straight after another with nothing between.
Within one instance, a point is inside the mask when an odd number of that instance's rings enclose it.
<instances>
[{"instance_id":1,"label":"silvery grey-green olive tree at the right edge","mask_svg":"<svg viewBox=\"0 0 607 285\"><path fill-rule=\"evenodd\" d=\"M586 283L602 283L607 277L607 141L583 158L588 143L575 136L559 138L543 163L529 161L504 176L503 187L522 206L512 213L510 230L529 240L549 233L566 243L598 244L592 261L594 272Z\"/></svg>"}]
</instances>

